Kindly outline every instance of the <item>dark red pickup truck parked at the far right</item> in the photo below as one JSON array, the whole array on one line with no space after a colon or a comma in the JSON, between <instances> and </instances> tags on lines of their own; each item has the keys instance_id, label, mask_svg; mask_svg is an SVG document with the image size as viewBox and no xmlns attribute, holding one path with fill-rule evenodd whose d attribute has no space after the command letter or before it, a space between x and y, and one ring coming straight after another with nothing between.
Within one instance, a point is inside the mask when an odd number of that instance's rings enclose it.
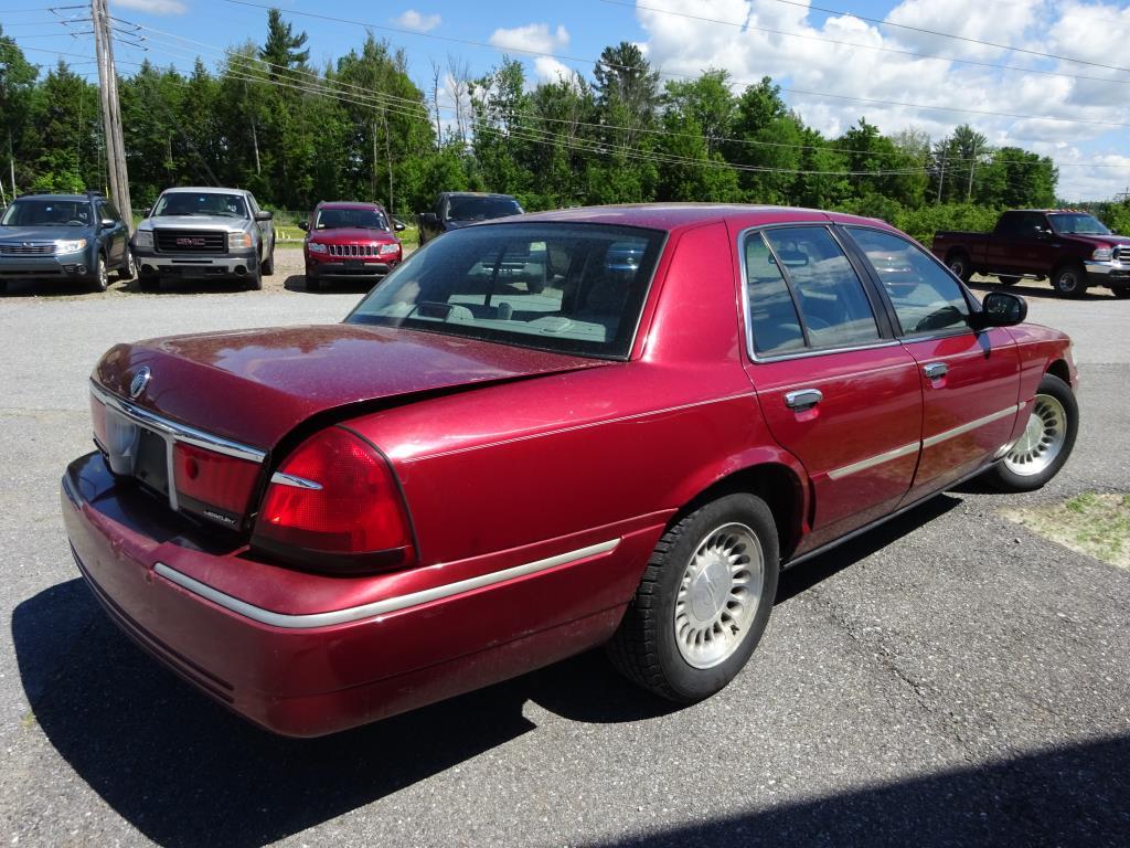
<instances>
[{"instance_id":1,"label":"dark red pickup truck parked at the far right","mask_svg":"<svg viewBox=\"0 0 1130 848\"><path fill-rule=\"evenodd\" d=\"M963 282L973 274L996 275L1006 286L1020 277L1050 278L1061 297L1078 297L1089 286L1130 297L1130 239L1086 213L1007 211L991 233L937 233L933 253Z\"/></svg>"}]
</instances>

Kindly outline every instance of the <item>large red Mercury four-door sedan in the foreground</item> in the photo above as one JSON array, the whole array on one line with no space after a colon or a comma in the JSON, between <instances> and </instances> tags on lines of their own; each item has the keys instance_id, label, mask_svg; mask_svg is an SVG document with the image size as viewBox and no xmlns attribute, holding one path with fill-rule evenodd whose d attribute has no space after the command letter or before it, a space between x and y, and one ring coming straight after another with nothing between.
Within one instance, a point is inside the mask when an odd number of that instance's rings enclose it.
<instances>
[{"instance_id":1,"label":"large red Mercury four-door sedan in the foreground","mask_svg":"<svg viewBox=\"0 0 1130 848\"><path fill-rule=\"evenodd\" d=\"M486 223L341 325L112 348L63 513L108 614L278 733L605 643L692 702L746 663L782 566L974 475L1059 470L1070 341L1025 313L845 215Z\"/></svg>"}]
</instances>

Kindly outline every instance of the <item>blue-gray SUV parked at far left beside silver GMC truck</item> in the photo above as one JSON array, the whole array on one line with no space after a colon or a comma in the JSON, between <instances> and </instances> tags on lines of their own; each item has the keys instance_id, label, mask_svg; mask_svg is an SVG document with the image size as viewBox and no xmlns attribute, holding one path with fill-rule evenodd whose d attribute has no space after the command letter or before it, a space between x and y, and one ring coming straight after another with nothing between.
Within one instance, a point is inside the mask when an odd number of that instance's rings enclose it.
<instances>
[{"instance_id":1,"label":"blue-gray SUV parked at far left beside silver GMC truck","mask_svg":"<svg viewBox=\"0 0 1130 848\"><path fill-rule=\"evenodd\" d=\"M0 292L10 279L84 283L106 291L110 271L133 276L130 233L96 191L20 194L0 217Z\"/></svg>"}]
</instances>

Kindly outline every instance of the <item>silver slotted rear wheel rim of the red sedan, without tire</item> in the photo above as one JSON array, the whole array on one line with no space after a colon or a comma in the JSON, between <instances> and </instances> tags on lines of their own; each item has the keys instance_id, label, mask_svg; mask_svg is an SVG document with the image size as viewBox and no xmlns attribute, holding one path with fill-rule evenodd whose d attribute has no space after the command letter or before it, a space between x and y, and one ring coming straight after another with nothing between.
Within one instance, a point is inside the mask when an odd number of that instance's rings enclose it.
<instances>
[{"instance_id":1,"label":"silver slotted rear wheel rim of the red sedan, without tire","mask_svg":"<svg viewBox=\"0 0 1130 848\"><path fill-rule=\"evenodd\" d=\"M764 577L762 546L745 525L724 525L698 543L675 602L675 642L689 665L710 668L738 649L757 613Z\"/></svg>"}]
</instances>

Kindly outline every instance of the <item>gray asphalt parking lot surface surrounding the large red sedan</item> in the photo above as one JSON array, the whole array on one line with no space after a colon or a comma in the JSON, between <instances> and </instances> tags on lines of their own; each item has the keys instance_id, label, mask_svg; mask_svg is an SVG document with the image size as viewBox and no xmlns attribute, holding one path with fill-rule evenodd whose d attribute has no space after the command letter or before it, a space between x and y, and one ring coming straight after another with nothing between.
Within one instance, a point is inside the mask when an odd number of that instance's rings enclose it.
<instances>
[{"instance_id":1,"label":"gray asphalt parking lot surface surrounding the large red sedan","mask_svg":"<svg viewBox=\"0 0 1130 848\"><path fill-rule=\"evenodd\" d=\"M59 477L114 341L340 320L363 288L307 293L296 253L263 292L0 298L6 843L1130 843L1130 573L975 486L788 572L749 667L683 710L599 654L311 742L182 684L79 581ZM1127 492L1130 302L1014 291L1074 335L1084 417L1063 473L1008 502Z\"/></svg>"}]
</instances>

